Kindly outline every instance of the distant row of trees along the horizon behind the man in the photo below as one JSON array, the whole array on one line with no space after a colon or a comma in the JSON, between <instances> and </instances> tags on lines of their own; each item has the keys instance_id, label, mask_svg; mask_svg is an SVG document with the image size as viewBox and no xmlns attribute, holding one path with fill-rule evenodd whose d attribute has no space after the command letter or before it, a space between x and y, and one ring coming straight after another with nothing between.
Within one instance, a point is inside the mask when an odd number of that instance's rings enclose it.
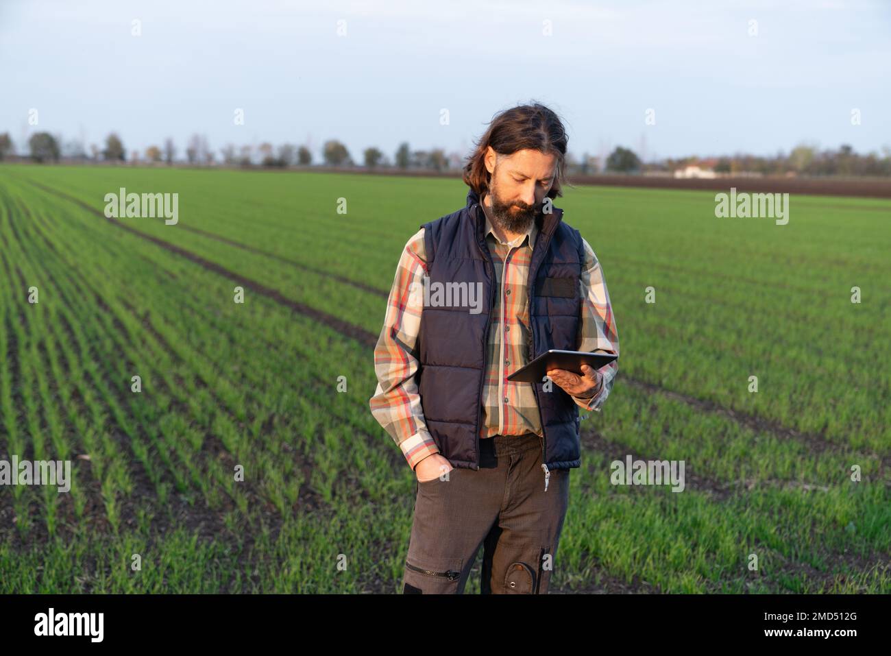
<instances>
[{"instance_id":1,"label":"distant row of trees along the horizon behind the man","mask_svg":"<svg viewBox=\"0 0 891 656\"><path fill-rule=\"evenodd\" d=\"M100 149L91 144L86 151L84 143L77 140L60 143L61 137L48 132L36 132L30 136L27 155L39 163L66 161L127 161L127 150L117 133L105 137ZM16 149L9 133L0 134L0 161L16 155ZM23 153L24 154L24 153ZM347 150L347 146L336 139L323 143L323 165L331 167L356 167L358 164ZM400 168L431 171L458 171L464 165L464 155L459 152L446 154L443 149L413 151L408 143L400 143L392 159L375 147L366 148L362 154L365 168ZM311 166L313 155L306 145L282 143L274 146L264 142L258 146L227 143L215 152L204 135L192 135L184 149L184 159L177 159L177 149L172 138L162 145L151 145L144 153L131 151L129 161L134 164L151 163L172 165L185 162L192 166L240 166L240 167L291 167ZM764 176L891 176L891 149L882 148L882 153L860 154L848 145L838 150L819 150L815 145L797 145L788 155L779 152L772 157L736 153L732 156L701 158L695 155L683 158L667 158L654 162L643 162L631 149L617 146L606 157L593 157L587 152L577 158L567 155L568 175L594 175L598 173L659 174L672 172L690 165L712 168L720 174L758 174Z\"/></svg>"}]
</instances>

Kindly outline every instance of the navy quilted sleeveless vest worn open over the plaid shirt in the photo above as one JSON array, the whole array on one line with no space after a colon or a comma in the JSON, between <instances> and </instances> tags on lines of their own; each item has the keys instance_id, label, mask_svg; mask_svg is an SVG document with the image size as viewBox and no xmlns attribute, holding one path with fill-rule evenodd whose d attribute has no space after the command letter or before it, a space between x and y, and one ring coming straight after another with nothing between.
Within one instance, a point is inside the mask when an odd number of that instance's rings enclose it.
<instances>
[{"instance_id":1,"label":"navy quilted sleeveless vest worn open over the plaid shirt","mask_svg":"<svg viewBox=\"0 0 891 656\"><path fill-rule=\"evenodd\" d=\"M544 214L529 266L527 361L549 348L576 350L581 318L582 235L562 222L563 210ZM421 406L433 440L454 467L479 469L486 344L495 304L495 263L483 231L486 217L470 190L463 209L422 224L429 283L481 282L482 311L426 306L421 313L418 371ZM533 284L535 283L535 284ZM527 384L527 383L520 383ZM549 470L581 464L576 402L556 383L533 383L544 431L542 462Z\"/></svg>"}]
</instances>

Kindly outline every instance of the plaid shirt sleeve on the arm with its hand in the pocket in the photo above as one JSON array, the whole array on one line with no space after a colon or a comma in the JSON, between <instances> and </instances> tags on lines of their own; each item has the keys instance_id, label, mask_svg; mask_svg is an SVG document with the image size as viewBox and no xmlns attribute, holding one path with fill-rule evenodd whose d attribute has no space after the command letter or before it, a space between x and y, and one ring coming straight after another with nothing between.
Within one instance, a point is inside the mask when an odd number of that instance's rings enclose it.
<instances>
[{"instance_id":1,"label":"plaid shirt sleeve on the arm with its hand in the pocket","mask_svg":"<svg viewBox=\"0 0 891 656\"><path fill-rule=\"evenodd\" d=\"M424 229L405 243L387 299L387 313L374 347L378 387L369 399L374 418L402 449L414 471L428 455L439 453L427 429L415 374L423 309L423 280L427 275Z\"/></svg>"}]
</instances>

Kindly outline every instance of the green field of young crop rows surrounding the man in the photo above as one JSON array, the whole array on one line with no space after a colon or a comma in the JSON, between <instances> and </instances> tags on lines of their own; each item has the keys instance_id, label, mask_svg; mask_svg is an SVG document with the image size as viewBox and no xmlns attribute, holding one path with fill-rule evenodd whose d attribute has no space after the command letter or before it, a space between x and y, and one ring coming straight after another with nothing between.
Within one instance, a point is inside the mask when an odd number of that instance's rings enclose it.
<instances>
[{"instance_id":1,"label":"green field of young crop rows surrounding the man","mask_svg":"<svg viewBox=\"0 0 891 656\"><path fill-rule=\"evenodd\" d=\"M104 217L121 187L177 193L178 222ZM369 410L372 349L405 241L465 195L0 167L0 460L72 476L0 487L0 593L398 592L414 475ZM552 592L891 592L891 201L793 194L787 225L708 192L556 204L621 357ZM626 455L683 461L683 492L612 485Z\"/></svg>"}]
</instances>

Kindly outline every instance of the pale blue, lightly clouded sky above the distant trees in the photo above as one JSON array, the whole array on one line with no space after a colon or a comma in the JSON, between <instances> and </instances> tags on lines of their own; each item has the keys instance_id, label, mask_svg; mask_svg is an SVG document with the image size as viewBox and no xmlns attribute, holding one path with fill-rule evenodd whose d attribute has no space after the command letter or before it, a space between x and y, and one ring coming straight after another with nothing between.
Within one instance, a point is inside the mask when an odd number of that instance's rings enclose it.
<instances>
[{"instance_id":1,"label":"pale blue, lightly clouded sky above the distant trees","mask_svg":"<svg viewBox=\"0 0 891 656\"><path fill-rule=\"evenodd\" d=\"M308 141L318 158L329 138L356 160L404 140L463 154L496 111L536 99L577 155L868 152L891 146L891 2L0 0L0 85L20 149L39 129L87 144L116 130L141 152L200 132L217 156Z\"/></svg>"}]
</instances>

